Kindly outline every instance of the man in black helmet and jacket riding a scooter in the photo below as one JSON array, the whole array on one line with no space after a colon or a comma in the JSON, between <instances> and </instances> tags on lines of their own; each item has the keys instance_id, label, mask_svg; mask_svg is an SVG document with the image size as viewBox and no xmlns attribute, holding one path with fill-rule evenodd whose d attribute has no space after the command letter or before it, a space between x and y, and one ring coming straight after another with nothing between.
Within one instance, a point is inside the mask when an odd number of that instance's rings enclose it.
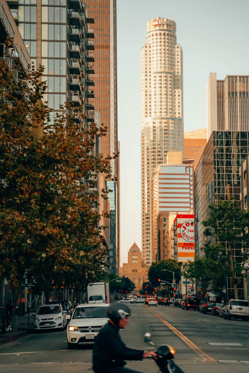
<instances>
[{"instance_id":1,"label":"man in black helmet and jacket riding a scooter","mask_svg":"<svg viewBox=\"0 0 249 373\"><path fill-rule=\"evenodd\" d=\"M129 349L122 341L119 329L124 329L130 316L129 308L115 302L108 308L109 322L100 330L93 348L93 371L95 373L139 373L127 368L124 360L156 359L154 352Z\"/></svg>"}]
</instances>

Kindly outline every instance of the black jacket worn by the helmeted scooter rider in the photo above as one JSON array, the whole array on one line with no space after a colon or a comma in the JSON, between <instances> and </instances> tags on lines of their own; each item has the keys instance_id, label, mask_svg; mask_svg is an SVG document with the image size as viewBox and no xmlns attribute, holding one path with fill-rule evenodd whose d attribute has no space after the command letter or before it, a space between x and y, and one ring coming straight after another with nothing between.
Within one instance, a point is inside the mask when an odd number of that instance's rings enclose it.
<instances>
[{"instance_id":1,"label":"black jacket worn by the helmeted scooter rider","mask_svg":"<svg viewBox=\"0 0 249 373\"><path fill-rule=\"evenodd\" d=\"M108 322L95 339L93 370L95 373L108 373L112 368L124 367L124 360L142 360L142 356L142 350L127 348L118 328Z\"/></svg>"}]
</instances>

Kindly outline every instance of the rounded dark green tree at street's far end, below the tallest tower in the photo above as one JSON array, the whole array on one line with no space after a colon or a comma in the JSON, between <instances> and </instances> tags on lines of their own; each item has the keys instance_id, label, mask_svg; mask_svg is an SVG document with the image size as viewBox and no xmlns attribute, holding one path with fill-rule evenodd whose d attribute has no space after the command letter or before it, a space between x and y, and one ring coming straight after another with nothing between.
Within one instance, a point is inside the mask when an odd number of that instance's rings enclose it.
<instances>
[{"instance_id":1,"label":"rounded dark green tree at street's far end, below the tallest tower","mask_svg":"<svg viewBox=\"0 0 249 373\"><path fill-rule=\"evenodd\" d=\"M148 270L148 279L153 287L158 287L160 281L166 281L169 284L172 284L173 272L176 283L180 281L180 266L178 261L175 259L164 259L158 262L152 263ZM169 284L166 284L166 287L170 287Z\"/></svg>"}]
</instances>

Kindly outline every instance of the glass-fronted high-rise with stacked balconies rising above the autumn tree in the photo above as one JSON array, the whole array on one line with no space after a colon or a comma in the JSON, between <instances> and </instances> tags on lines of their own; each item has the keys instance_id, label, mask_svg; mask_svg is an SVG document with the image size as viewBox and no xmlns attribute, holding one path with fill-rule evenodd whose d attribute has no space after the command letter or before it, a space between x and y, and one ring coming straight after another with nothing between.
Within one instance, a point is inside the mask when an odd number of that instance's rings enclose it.
<instances>
[{"instance_id":1,"label":"glass-fronted high-rise with stacked balconies rising above the autumn tree","mask_svg":"<svg viewBox=\"0 0 249 373\"><path fill-rule=\"evenodd\" d=\"M88 119L76 119L86 128L94 121L94 31L86 6L79 0L8 1L19 32L35 67L44 66L47 81L44 100L52 109L51 120L60 105L72 101Z\"/></svg>"}]
</instances>

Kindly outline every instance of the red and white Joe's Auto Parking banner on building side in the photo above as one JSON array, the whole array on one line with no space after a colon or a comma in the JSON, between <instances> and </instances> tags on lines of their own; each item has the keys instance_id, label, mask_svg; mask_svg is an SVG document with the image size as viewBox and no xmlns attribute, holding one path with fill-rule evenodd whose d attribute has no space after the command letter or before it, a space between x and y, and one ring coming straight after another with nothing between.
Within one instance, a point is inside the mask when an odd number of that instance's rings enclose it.
<instances>
[{"instance_id":1,"label":"red and white Joe's Auto Parking banner on building side","mask_svg":"<svg viewBox=\"0 0 249 373\"><path fill-rule=\"evenodd\" d=\"M195 258L194 215L177 215L176 221L178 262L192 262Z\"/></svg>"}]
</instances>

